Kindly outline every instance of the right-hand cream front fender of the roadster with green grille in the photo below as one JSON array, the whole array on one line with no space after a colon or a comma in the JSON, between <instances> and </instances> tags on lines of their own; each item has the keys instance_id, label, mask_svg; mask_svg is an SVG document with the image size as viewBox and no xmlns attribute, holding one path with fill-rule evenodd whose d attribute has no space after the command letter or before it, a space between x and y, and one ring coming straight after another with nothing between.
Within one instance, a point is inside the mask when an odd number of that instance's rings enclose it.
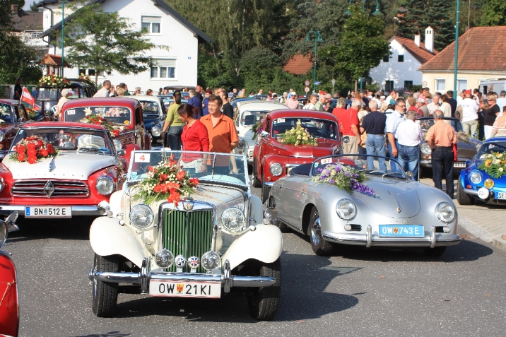
<instances>
[{"instance_id":1,"label":"right-hand cream front fender of the roadster with green grille","mask_svg":"<svg viewBox=\"0 0 506 337\"><path fill-rule=\"evenodd\" d=\"M257 229L239 237L221 257L222 264L230 261L230 268L239 266L247 259L271 264L281 256L283 238L274 225L257 225Z\"/></svg>"}]
</instances>

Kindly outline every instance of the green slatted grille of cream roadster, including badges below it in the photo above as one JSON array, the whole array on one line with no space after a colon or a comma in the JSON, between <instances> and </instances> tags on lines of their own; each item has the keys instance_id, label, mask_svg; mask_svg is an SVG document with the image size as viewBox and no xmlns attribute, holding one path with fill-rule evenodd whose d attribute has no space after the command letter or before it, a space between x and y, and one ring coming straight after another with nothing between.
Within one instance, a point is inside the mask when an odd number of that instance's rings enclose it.
<instances>
[{"instance_id":1,"label":"green slatted grille of cream roadster, including badges below it","mask_svg":"<svg viewBox=\"0 0 506 337\"><path fill-rule=\"evenodd\" d=\"M182 255L186 259L190 256L202 255L211 250L213 238L213 211L177 211L165 210L162 225L163 247L170 250L174 256ZM176 271L172 265L167 271ZM189 271L184 266L183 271ZM205 273L199 266L197 273Z\"/></svg>"}]
</instances>

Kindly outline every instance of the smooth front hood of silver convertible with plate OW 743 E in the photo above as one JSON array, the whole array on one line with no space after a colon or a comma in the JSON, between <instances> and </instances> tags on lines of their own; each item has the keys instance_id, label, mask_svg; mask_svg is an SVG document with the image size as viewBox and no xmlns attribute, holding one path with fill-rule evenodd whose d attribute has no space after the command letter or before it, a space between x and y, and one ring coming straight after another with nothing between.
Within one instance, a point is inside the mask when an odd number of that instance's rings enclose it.
<instances>
[{"instance_id":1,"label":"smooth front hood of silver convertible with plate OW 743 E","mask_svg":"<svg viewBox=\"0 0 506 337\"><path fill-rule=\"evenodd\" d=\"M416 182L373 177L365 184L376 192L377 197L354 192L353 198L362 201L375 213L390 218L411 218L420 213Z\"/></svg>"}]
</instances>

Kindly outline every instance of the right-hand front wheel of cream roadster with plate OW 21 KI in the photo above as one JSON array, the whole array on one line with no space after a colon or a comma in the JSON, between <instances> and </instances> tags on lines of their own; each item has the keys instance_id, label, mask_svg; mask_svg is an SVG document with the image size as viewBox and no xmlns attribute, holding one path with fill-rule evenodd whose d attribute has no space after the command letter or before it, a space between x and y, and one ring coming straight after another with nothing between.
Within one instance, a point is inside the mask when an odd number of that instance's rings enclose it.
<instances>
[{"instance_id":1,"label":"right-hand front wheel of cream roadster with plate OW 21 KI","mask_svg":"<svg viewBox=\"0 0 506 337\"><path fill-rule=\"evenodd\" d=\"M276 278L276 283L253 289L253 294L248 296L249 314L259 321L270 321L276 316L281 298L281 261L261 263L257 270L258 276Z\"/></svg>"}]
</instances>

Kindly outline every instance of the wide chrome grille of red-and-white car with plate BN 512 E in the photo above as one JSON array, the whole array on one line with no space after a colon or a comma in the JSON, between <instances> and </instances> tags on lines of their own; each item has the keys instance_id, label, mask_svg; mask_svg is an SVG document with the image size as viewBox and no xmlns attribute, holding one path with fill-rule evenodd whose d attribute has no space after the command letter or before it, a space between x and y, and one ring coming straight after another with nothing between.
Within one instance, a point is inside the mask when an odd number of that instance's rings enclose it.
<instances>
[{"instance_id":1,"label":"wide chrome grille of red-and-white car with plate BN 512 E","mask_svg":"<svg viewBox=\"0 0 506 337\"><path fill-rule=\"evenodd\" d=\"M48 182L54 187L49 193L49 198L86 198L89 195L88 185L79 180L51 180L51 179L26 179L14 182L11 188L12 196L28 196L35 198L47 198L45 187Z\"/></svg>"}]
</instances>

